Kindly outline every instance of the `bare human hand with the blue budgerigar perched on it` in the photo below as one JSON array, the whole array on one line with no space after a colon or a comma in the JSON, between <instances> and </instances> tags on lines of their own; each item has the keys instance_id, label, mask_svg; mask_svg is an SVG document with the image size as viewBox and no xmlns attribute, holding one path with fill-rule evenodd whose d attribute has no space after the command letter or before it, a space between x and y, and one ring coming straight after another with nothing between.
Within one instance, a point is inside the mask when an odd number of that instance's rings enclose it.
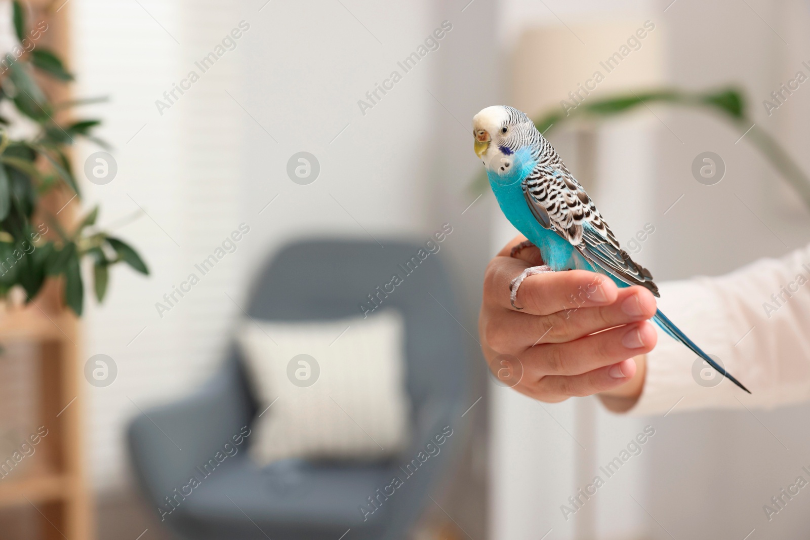
<instances>
[{"instance_id":1,"label":"bare human hand with the blue budgerigar perched on it","mask_svg":"<svg viewBox=\"0 0 810 540\"><path fill-rule=\"evenodd\" d=\"M539 401L602 393L608 408L629 408L644 384L643 355L657 340L648 321L655 297L645 287L619 288L603 274L570 270L527 278L515 302L522 310L515 310L509 283L543 264L534 246L509 257L522 240L506 244L484 274L479 334L490 369Z\"/></svg>"}]
</instances>

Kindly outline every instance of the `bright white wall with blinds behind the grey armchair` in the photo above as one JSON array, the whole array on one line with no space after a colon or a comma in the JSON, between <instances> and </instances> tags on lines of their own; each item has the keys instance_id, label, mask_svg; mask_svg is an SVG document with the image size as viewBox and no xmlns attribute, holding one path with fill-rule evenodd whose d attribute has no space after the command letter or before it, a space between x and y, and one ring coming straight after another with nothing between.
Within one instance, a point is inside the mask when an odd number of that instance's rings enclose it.
<instances>
[{"instance_id":1,"label":"bright white wall with blinds behind the grey armchair","mask_svg":"<svg viewBox=\"0 0 810 540\"><path fill-rule=\"evenodd\" d=\"M104 305L87 310L85 356L110 355L119 369L113 385L86 387L87 460L102 490L126 483L124 429L139 407L193 391L220 362L241 313L227 295L244 306L255 267L280 244L441 225L427 217L436 108L426 88L453 32L372 110L357 105L441 25L429 2L139 2L70 4L76 93L111 97L87 113L104 119L119 167L108 185L83 183L84 205L102 204L102 225L142 206L120 234L152 270L116 269ZM161 115L155 100L241 20L237 48ZM80 147L77 164L95 150ZM286 174L297 151L320 161L311 185ZM156 302L243 222L237 251L161 318Z\"/></svg>"}]
</instances>

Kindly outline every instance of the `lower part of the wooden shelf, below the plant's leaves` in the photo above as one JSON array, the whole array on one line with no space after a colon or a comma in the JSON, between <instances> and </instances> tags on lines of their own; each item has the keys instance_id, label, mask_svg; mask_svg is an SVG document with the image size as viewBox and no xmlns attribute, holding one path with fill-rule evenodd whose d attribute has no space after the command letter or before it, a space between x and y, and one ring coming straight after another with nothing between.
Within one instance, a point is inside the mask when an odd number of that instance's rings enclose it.
<instances>
[{"instance_id":1,"label":"lower part of the wooden shelf, below the plant's leaves","mask_svg":"<svg viewBox=\"0 0 810 540\"><path fill-rule=\"evenodd\" d=\"M33 505L42 516L47 540L92 540L79 412L83 383L79 323L65 308L49 308L46 295L50 292L52 298L61 298L54 293L58 293L58 285L47 283L36 304L0 311L0 344L29 342L39 350L33 357L40 364L36 425L48 429L36 454L26 457L32 466L20 470L19 476L0 478L0 508Z\"/></svg>"}]
</instances>

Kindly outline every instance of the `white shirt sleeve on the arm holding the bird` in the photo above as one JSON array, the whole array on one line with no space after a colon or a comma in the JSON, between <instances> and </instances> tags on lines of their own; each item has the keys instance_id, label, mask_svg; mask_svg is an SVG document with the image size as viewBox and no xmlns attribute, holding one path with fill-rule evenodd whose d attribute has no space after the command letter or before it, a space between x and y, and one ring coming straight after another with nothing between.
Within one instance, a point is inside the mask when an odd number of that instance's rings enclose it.
<instances>
[{"instance_id":1,"label":"white shirt sleeve on the arm holding the bird","mask_svg":"<svg viewBox=\"0 0 810 540\"><path fill-rule=\"evenodd\" d=\"M659 308L752 394L716 375L659 329L633 415L772 408L810 399L810 246L731 274L663 283ZM702 385L698 383L702 382ZM677 404L677 405L676 405ZM674 407L674 408L673 408Z\"/></svg>"}]
</instances>

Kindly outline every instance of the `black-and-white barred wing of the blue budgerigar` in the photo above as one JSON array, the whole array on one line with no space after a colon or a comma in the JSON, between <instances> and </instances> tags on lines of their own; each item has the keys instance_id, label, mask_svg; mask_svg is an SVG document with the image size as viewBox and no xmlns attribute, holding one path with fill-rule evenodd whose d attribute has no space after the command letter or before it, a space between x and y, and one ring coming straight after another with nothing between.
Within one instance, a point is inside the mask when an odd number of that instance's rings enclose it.
<instances>
[{"instance_id":1,"label":"black-and-white barred wing of the blue budgerigar","mask_svg":"<svg viewBox=\"0 0 810 540\"><path fill-rule=\"evenodd\" d=\"M536 130L537 164L522 181L523 195L543 227L568 240L595 266L629 285L659 296L650 271L621 249L582 185L571 175L552 145ZM533 137L534 138L534 137Z\"/></svg>"}]
</instances>

